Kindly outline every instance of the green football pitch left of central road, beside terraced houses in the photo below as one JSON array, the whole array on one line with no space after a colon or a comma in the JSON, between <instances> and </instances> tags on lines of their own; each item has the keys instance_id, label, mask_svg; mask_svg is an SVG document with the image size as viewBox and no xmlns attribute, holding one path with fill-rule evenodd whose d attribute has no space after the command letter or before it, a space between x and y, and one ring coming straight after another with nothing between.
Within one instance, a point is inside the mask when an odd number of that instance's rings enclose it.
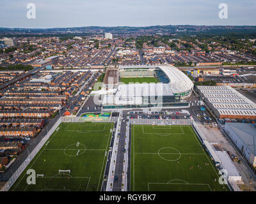
<instances>
[{"instance_id":1,"label":"green football pitch left of central road, beside terraced houses","mask_svg":"<svg viewBox=\"0 0 256 204\"><path fill-rule=\"evenodd\" d=\"M10 191L100 191L111 129L113 123L61 123ZM27 184L28 169L36 184Z\"/></svg>"}]
</instances>

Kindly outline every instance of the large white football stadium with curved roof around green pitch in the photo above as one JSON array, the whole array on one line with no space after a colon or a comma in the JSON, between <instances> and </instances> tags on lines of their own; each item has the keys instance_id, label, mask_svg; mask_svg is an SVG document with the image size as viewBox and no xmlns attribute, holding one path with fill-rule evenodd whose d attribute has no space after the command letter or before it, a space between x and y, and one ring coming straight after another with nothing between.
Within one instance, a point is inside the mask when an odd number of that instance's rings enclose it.
<instances>
[{"instance_id":1,"label":"large white football stadium with curved roof around green pitch","mask_svg":"<svg viewBox=\"0 0 256 204\"><path fill-rule=\"evenodd\" d=\"M184 107L193 82L170 65L120 66L108 68L100 95L103 109L141 107Z\"/></svg>"}]
</instances>

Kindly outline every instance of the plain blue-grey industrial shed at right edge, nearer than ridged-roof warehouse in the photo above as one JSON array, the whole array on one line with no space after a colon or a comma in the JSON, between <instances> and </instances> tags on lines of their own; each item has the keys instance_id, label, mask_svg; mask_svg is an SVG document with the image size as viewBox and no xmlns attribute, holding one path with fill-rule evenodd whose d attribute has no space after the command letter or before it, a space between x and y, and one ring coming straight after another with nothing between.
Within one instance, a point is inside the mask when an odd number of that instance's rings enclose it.
<instances>
[{"instance_id":1,"label":"plain blue-grey industrial shed at right edge, nearer than ridged-roof warehouse","mask_svg":"<svg viewBox=\"0 0 256 204\"><path fill-rule=\"evenodd\" d=\"M226 122L225 132L250 164L256 166L256 128L254 124Z\"/></svg>"}]
</instances>

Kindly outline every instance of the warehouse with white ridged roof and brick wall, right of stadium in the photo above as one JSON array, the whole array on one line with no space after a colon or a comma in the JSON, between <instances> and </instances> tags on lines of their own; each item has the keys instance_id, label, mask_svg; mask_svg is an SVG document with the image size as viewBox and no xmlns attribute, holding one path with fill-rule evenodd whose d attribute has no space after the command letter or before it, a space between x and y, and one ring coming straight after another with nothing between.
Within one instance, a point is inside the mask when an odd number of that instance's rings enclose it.
<instances>
[{"instance_id":1,"label":"warehouse with white ridged roof and brick wall, right of stadium","mask_svg":"<svg viewBox=\"0 0 256 204\"><path fill-rule=\"evenodd\" d=\"M216 117L220 119L256 119L256 104L230 86L196 86Z\"/></svg>"}]
</instances>

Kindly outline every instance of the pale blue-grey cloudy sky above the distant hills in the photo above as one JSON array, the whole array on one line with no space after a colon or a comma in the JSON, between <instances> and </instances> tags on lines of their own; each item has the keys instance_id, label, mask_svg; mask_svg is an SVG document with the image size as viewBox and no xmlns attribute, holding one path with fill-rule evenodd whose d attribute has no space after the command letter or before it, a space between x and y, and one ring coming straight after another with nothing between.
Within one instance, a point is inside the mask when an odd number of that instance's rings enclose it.
<instances>
[{"instance_id":1,"label":"pale blue-grey cloudy sky above the distant hills","mask_svg":"<svg viewBox=\"0 0 256 204\"><path fill-rule=\"evenodd\" d=\"M227 19L219 18L221 3ZM256 25L255 10L256 0L0 0L0 27Z\"/></svg>"}]
</instances>

